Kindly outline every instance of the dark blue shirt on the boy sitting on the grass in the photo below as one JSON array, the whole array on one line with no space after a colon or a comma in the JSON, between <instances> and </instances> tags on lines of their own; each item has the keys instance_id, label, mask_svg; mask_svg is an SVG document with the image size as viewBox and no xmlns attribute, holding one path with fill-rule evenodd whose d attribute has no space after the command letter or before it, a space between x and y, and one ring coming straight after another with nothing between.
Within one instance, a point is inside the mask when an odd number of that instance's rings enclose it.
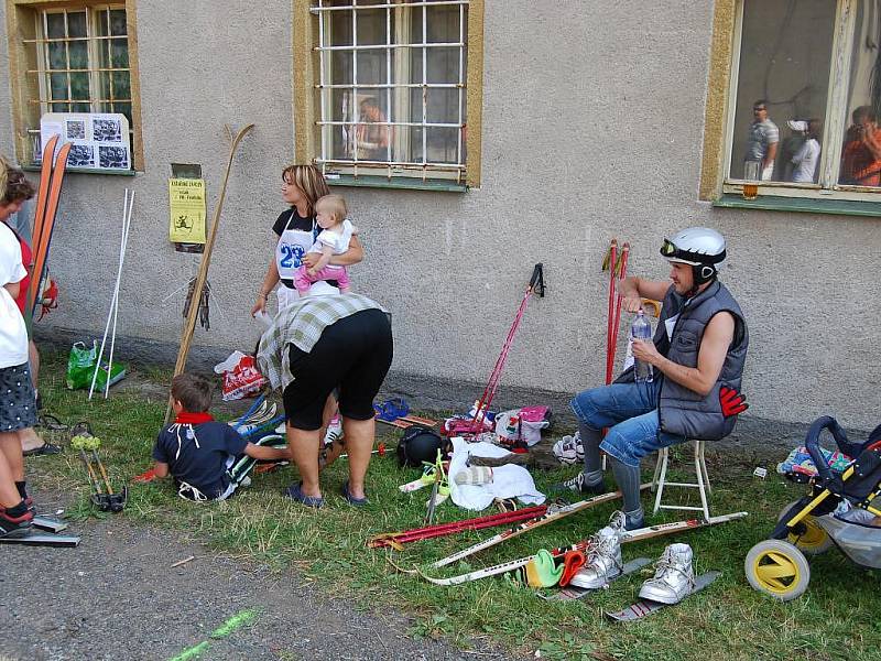
<instances>
[{"instance_id":1,"label":"dark blue shirt on the boy sitting on the grass","mask_svg":"<svg viewBox=\"0 0 881 661\"><path fill-rule=\"evenodd\" d=\"M208 498L217 498L229 486L227 460L244 453L248 441L228 424L174 423L156 437L153 458L168 465L180 485L196 487Z\"/></svg>"}]
</instances>

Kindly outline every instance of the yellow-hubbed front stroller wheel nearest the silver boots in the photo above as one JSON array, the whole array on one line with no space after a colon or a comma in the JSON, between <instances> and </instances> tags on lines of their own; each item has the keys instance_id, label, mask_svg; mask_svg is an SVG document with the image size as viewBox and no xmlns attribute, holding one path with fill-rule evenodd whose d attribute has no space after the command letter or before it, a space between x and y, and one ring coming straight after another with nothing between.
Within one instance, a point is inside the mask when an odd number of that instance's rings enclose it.
<instances>
[{"instance_id":1,"label":"yellow-hubbed front stroller wheel nearest the silver boots","mask_svg":"<svg viewBox=\"0 0 881 661\"><path fill-rule=\"evenodd\" d=\"M811 581L811 566L804 554L788 542L759 542L743 562L747 581L761 593L788 602L804 594Z\"/></svg>"}]
</instances>

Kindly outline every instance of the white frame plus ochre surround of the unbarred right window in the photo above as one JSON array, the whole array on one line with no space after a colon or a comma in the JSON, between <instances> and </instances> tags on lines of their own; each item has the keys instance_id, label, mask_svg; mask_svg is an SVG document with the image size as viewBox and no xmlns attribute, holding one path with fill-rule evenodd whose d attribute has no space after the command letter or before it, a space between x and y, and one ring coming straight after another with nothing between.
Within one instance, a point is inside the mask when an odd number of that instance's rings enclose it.
<instances>
[{"instance_id":1,"label":"white frame plus ochre surround of the unbarred right window","mask_svg":"<svg viewBox=\"0 0 881 661\"><path fill-rule=\"evenodd\" d=\"M824 144L817 164L816 184L795 182L759 182L761 197L790 197L806 201L881 203L881 187L867 189L837 183L840 174L840 137L847 128L851 52L859 0L836 0L829 88L824 121ZM718 202L740 196L744 180L730 174L731 153L737 137L735 112L739 82L744 0L717 0L714 11L710 71L707 85L704 152L698 196ZM829 137L835 137L830 139ZM721 205L728 206L728 205ZM759 203L743 206L763 206ZM800 209L805 210L805 209Z\"/></svg>"}]
</instances>

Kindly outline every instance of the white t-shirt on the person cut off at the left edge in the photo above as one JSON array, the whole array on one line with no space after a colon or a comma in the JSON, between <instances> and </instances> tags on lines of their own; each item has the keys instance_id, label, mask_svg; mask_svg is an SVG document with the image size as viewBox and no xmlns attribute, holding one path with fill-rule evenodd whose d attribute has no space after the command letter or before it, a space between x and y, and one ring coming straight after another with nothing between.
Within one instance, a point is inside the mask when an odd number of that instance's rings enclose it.
<instances>
[{"instance_id":1,"label":"white t-shirt on the person cut off at the left edge","mask_svg":"<svg viewBox=\"0 0 881 661\"><path fill-rule=\"evenodd\" d=\"M21 282L26 274L21 263L19 239L4 223L0 223L0 369L28 362L24 317L3 286Z\"/></svg>"}]
</instances>

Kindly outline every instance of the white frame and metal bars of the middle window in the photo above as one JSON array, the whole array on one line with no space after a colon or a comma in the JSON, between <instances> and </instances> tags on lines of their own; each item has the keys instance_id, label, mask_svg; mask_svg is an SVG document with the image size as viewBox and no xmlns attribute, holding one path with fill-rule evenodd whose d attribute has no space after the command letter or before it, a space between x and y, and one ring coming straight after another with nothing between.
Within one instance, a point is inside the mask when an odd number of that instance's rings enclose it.
<instances>
[{"instance_id":1,"label":"white frame and metal bars of the middle window","mask_svg":"<svg viewBox=\"0 0 881 661\"><path fill-rule=\"evenodd\" d=\"M392 177L413 177L424 180L453 180L457 183L464 184L466 181L467 172L467 154L466 144L464 140L464 129L467 126L465 115L466 104L466 87L468 75L465 71L465 55L468 48L468 31L466 30L466 18L468 17L468 8L470 0L438 0L435 2L425 2L421 0L389 0L385 3L378 4L359 4L358 0L349 0L349 2L334 3L327 0L316 0L315 6L311 8L313 17L317 18L318 29L317 36L318 43L314 51L318 54L318 80L315 84L317 90L317 112L315 124L318 130L318 138L316 140L316 154L314 158L315 163L327 173L352 175L355 177L363 175L382 175L388 178ZM426 14L427 8L456 6L459 8L459 40L452 43L435 43L426 42L427 39L427 23ZM385 10L385 43L373 45L358 45L357 42L350 46L329 46L325 45L329 42L329 21L325 17L329 12L335 11L351 11L352 15L352 34L357 35L357 20L358 10ZM414 41L410 34L409 20L401 20L401 17L406 17L413 11L422 11L422 35L421 39ZM392 34L391 18L392 12L399 13L399 20L395 21L394 34ZM357 40L357 36L354 36ZM428 83L427 82L427 52L429 48L435 47L458 47L459 63L458 63L458 80L454 83ZM411 76L404 77L404 69L410 68L410 57L396 57L392 53L404 53L411 48L422 50L422 82L421 83L401 83L399 80L411 80ZM385 71L387 77L384 84L370 84L359 85L358 75L358 52L363 50L384 50L385 51ZM351 84L328 83L330 73L330 62L327 54L333 51L351 51L352 52L352 80ZM469 62L470 66L470 62ZM427 104L426 95L422 95L422 118L421 121L401 121L401 117L410 116L410 90L414 88L422 88L427 91L429 89L457 89L458 90L458 117L457 122L432 122L427 118ZM333 119L333 89L349 89L351 90L351 98L357 98L359 89L373 89L378 94L384 93L387 109L391 112L393 121L382 122L387 126L393 134L393 139L389 141L387 147L387 161L363 161L357 159L356 155L351 159L335 159L333 158L333 131L337 127L347 127L352 130L357 126L363 126L368 122L361 122L360 117L357 116L358 108L352 102L352 112L355 116L349 121L340 121ZM395 94L394 90L401 90L404 94ZM392 110L393 109L393 110ZM407 127L407 130L395 131L395 127ZM422 128L422 161L401 161L394 160L393 154L401 152L406 148L406 143L411 140L412 129ZM428 161L427 160L427 129L428 128L455 128L457 131L456 144L456 162L443 161ZM355 147L357 150L357 134L355 138Z\"/></svg>"}]
</instances>

